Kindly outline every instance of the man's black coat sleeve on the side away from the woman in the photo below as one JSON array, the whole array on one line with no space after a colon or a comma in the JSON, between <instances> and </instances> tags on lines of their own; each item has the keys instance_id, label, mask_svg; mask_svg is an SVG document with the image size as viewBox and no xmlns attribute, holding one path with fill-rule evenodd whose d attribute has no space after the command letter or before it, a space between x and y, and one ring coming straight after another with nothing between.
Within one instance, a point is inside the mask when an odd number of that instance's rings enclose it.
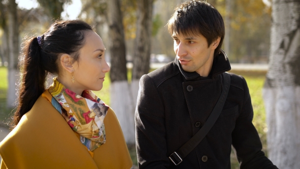
<instances>
[{"instance_id":1,"label":"man's black coat sleeve on the side away from the woman","mask_svg":"<svg viewBox=\"0 0 300 169\"><path fill-rule=\"evenodd\" d=\"M244 99L239 109L232 132L232 145L241 168L273 169L277 168L261 151L262 145L259 135L252 124L253 108L246 80L242 77L244 85Z\"/></svg>"}]
</instances>

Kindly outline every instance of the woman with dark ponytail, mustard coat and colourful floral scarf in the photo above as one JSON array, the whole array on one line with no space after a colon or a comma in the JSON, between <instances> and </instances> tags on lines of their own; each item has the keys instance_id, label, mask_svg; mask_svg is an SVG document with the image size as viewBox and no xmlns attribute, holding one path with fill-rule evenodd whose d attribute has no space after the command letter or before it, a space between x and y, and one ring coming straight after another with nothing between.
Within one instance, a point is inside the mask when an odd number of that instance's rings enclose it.
<instances>
[{"instance_id":1,"label":"woman with dark ponytail, mustard coat and colourful floral scarf","mask_svg":"<svg viewBox=\"0 0 300 169\"><path fill-rule=\"evenodd\" d=\"M25 43L14 129L1 168L130 168L111 108L93 92L110 68L102 39L80 20L56 21ZM57 74L45 90L47 73Z\"/></svg>"}]
</instances>

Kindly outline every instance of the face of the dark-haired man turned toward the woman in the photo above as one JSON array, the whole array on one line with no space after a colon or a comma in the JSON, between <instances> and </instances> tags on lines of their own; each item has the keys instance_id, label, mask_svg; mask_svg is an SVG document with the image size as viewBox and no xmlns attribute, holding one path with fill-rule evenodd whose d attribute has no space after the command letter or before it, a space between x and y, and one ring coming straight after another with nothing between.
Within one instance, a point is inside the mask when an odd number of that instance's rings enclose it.
<instances>
[{"instance_id":1,"label":"face of the dark-haired man turned toward the woman","mask_svg":"<svg viewBox=\"0 0 300 169\"><path fill-rule=\"evenodd\" d=\"M206 38L201 34L193 36L173 34L172 38L174 51L182 68L187 72L196 71L201 76L207 76L213 64L214 51L219 43L213 42L208 46Z\"/></svg>"}]
</instances>

